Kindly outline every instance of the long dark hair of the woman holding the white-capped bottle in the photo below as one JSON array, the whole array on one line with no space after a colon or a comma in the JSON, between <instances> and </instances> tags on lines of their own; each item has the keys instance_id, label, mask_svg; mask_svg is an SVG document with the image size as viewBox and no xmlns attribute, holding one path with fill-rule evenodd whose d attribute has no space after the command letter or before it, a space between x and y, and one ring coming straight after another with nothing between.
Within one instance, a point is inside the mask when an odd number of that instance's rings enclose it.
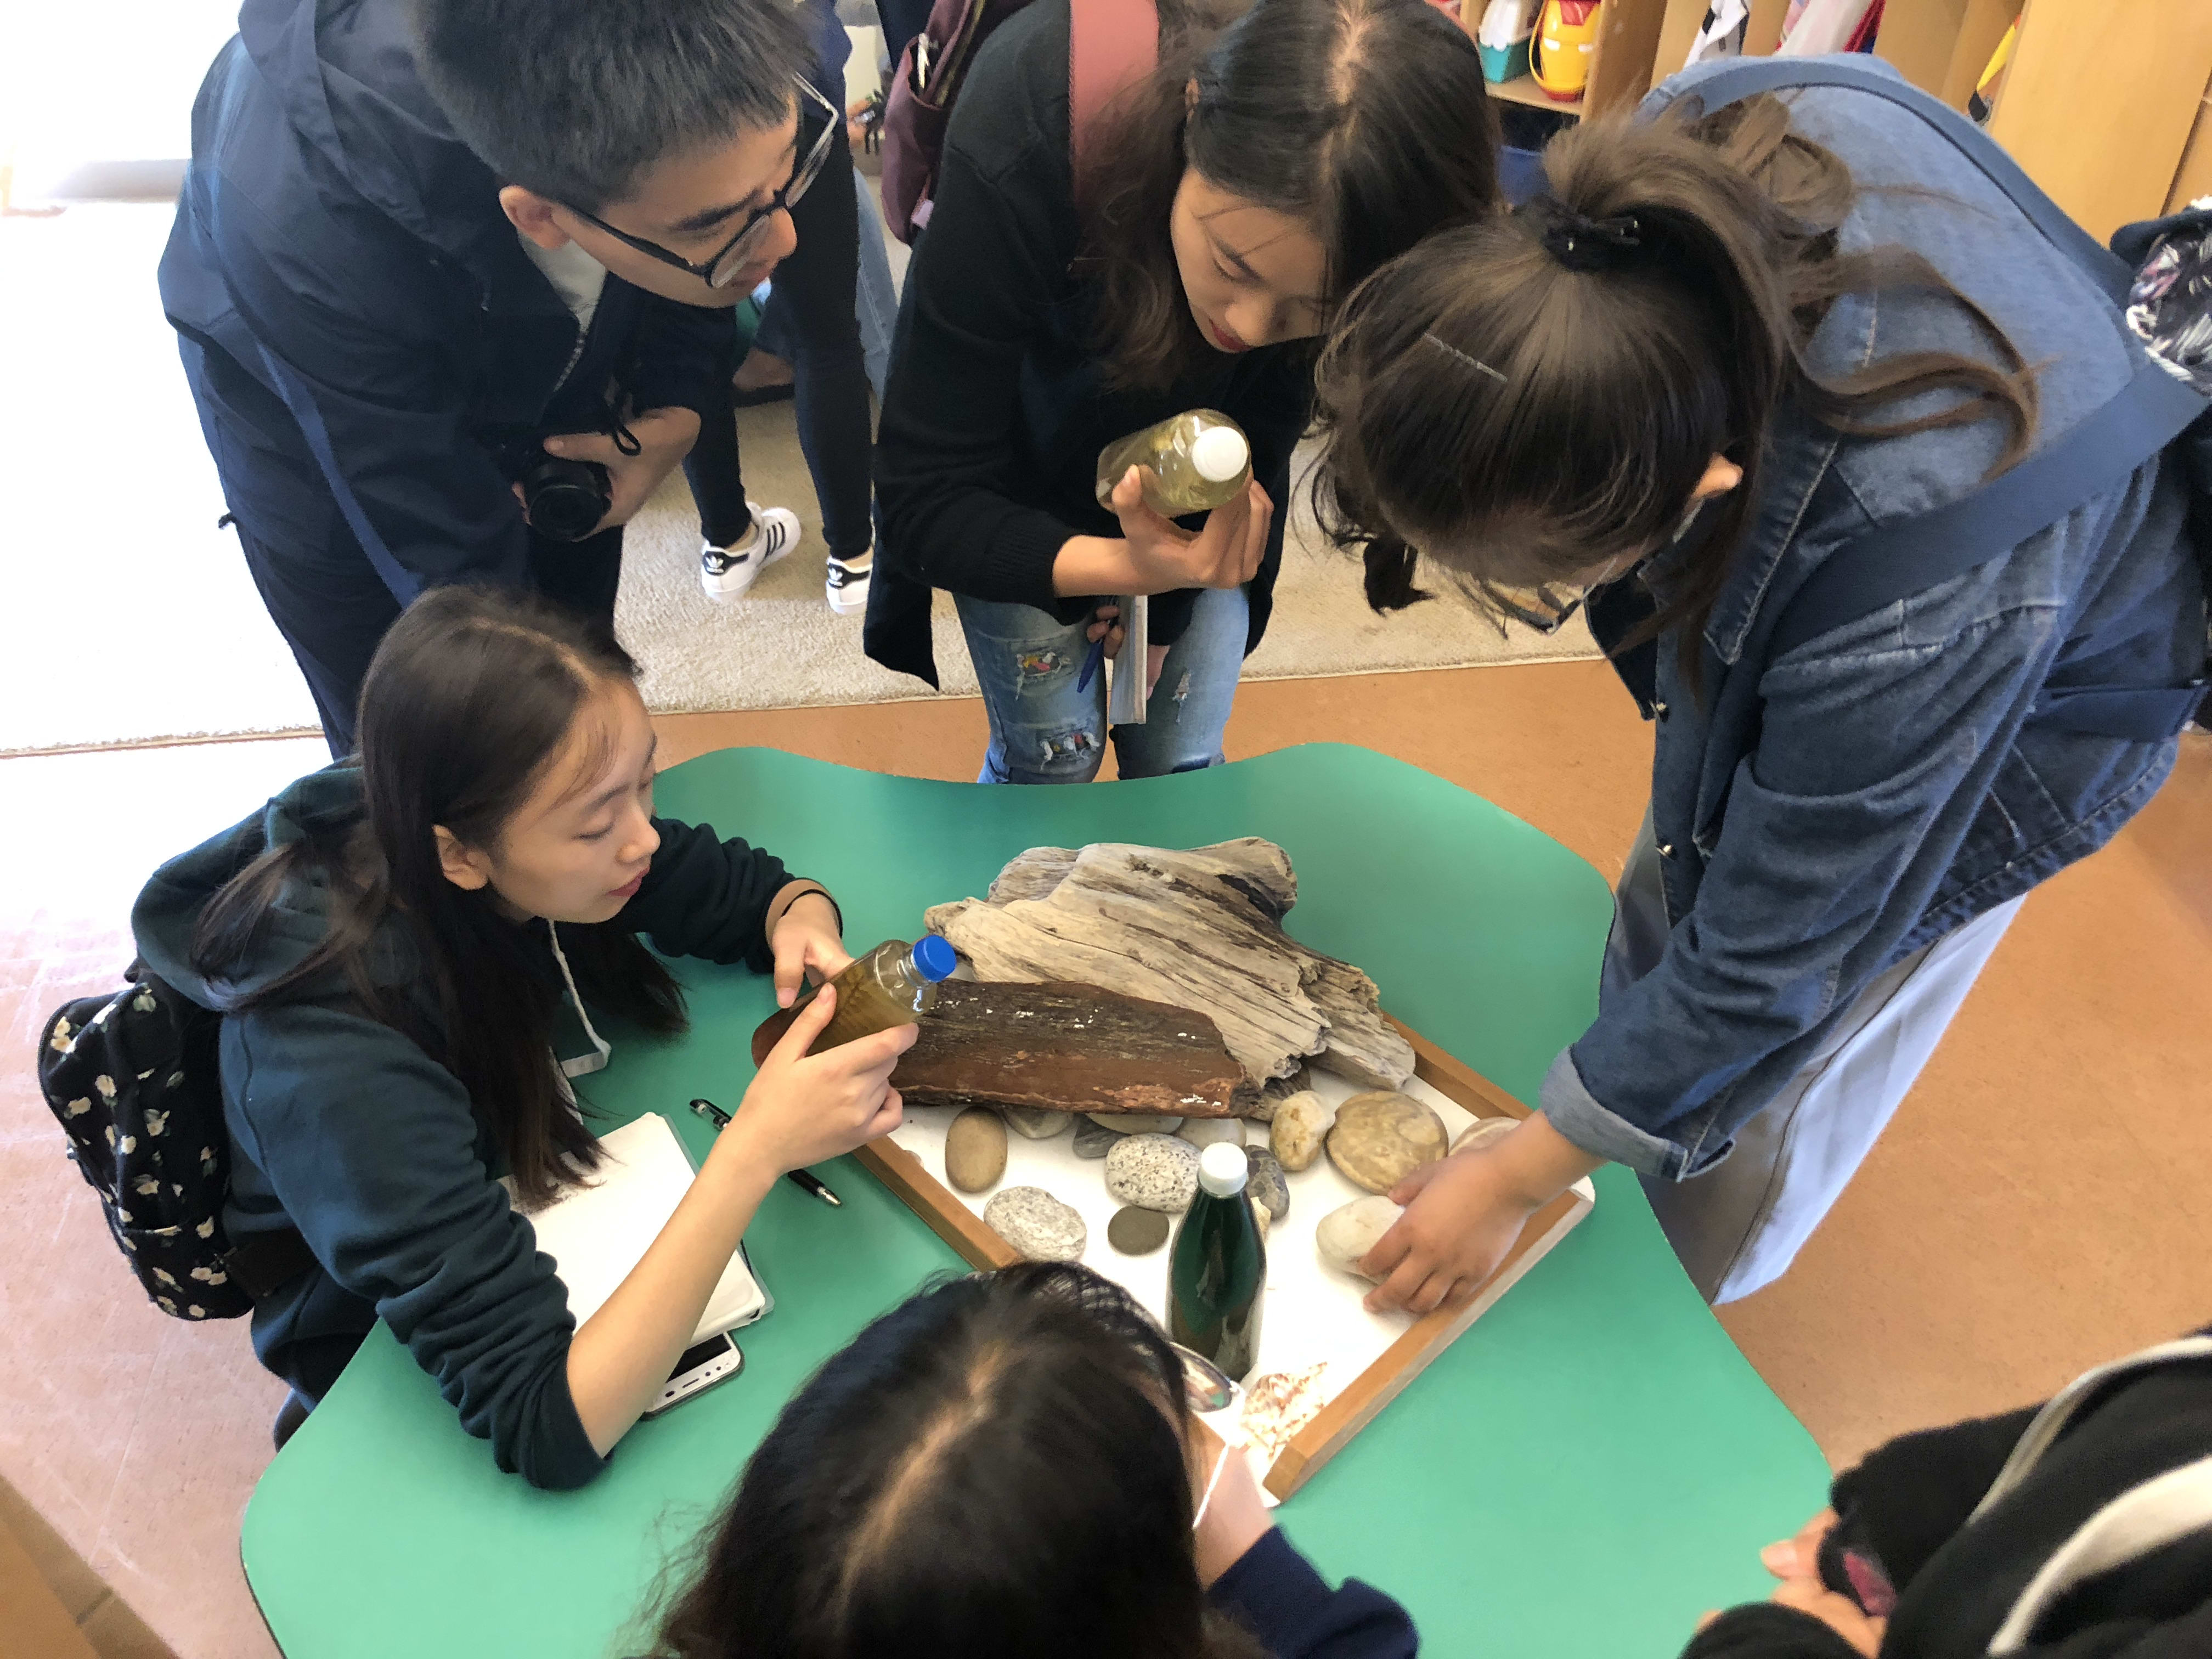
<instances>
[{"instance_id":1,"label":"long dark hair of the woman holding the white-capped bottle","mask_svg":"<svg viewBox=\"0 0 2212 1659\"><path fill-rule=\"evenodd\" d=\"M1219 7L1161 4L1159 66L1099 117L1077 181L1113 387L1210 356L1168 239L1186 168L1312 226L1332 299L1498 199L1482 58L1427 0L1259 0L1214 33Z\"/></svg>"}]
</instances>

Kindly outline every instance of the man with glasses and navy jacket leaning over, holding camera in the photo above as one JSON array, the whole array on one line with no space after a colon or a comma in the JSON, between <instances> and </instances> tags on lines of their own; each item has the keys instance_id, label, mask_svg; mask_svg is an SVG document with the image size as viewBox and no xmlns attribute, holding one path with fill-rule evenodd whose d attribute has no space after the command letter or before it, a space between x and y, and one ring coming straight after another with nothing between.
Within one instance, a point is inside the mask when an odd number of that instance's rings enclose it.
<instances>
[{"instance_id":1,"label":"man with glasses and navy jacket leaning over, holding camera","mask_svg":"<svg viewBox=\"0 0 2212 1659\"><path fill-rule=\"evenodd\" d=\"M728 310L843 144L812 60L781 0L246 0L161 301L334 754L427 586L613 622L622 524L730 420ZM796 540L714 476L710 540Z\"/></svg>"}]
</instances>

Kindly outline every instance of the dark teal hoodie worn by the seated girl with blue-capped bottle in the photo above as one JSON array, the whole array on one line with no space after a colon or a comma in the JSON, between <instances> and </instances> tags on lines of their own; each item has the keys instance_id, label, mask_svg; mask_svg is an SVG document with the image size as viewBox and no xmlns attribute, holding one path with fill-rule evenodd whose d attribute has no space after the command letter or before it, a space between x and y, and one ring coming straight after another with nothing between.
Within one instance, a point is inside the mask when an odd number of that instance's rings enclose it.
<instances>
[{"instance_id":1,"label":"dark teal hoodie worn by the seated girl with blue-capped bottle","mask_svg":"<svg viewBox=\"0 0 2212 1659\"><path fill-rule=\"evenodd\" d=\"M237 975L192 971L208 900L268 847L312 823L361 814L361 772L325 768L243 823L153 874L131 914L139 956L206 1009L228 1009L290 971L330 925L330 889L299 878ZM710 827L655 818L661 847L617 922L668 956L774 967L763 925L790 880L781 860ZM540 940L544 922L531 922ZM387 922L378 987L411 987L436 1031L411 936ZM546 945L542 971L560 973ZM593 1055L575 1004L546 1033L564 1060ZM595 1055L593 1055L595 1057ZM223 1121L230 1199L223 1228L246 1241L296 1228L316 1267L254 1307L254 1352L288 1374L294 1343L365 1336L378 1318L438 1380L462 1427L491 1440L507 1471L535 1486L580 1486L599 1471L568 1396L568 1292L531 1223L509 1208L500 1152L469 1091L438 1060L372 1020L332 973L281 1004L226 1013Z\"/></svg>"}]
</instances>

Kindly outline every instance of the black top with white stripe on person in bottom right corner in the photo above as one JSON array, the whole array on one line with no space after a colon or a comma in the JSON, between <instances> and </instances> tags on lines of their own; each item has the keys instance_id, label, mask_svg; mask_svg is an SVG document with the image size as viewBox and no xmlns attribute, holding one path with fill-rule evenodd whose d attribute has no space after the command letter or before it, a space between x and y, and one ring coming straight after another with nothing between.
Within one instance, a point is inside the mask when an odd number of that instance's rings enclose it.
<instances>
[{"instance_id":1,"label":"black top with white stripe on person in bottom right corner","mask_svg":"<svg viewBox=\"0 0 2212 1659\"><path fill-rule=\"evenodd\" d=\"M2048 1449L2022 1458L1980 1513L2015 1447L2026 1451L2035 1411L1902 1436L1836 1480L1838 1522L1820 1577L1889 1619L1882 1659L1980 1659L2035 1575L2093 1517L2101 1515L2099 1537L2110 1542L2115 1502L2188 1464L2208 1464L2194 1528L2183 1520L2166 1542L2112 1546L2101 1571L2039 1597L2008 1650L2022 1659L2212 1655L2212 1352L2110 1378L2093 1371L2059 1400L2077 1389ZM2035 1438L2055 1422L2057 1411ZM1683 1659L1854 1659L1854 1648L1807 1613L1761 1604L1714 1619Z\"/></svg>"}]
</instances>

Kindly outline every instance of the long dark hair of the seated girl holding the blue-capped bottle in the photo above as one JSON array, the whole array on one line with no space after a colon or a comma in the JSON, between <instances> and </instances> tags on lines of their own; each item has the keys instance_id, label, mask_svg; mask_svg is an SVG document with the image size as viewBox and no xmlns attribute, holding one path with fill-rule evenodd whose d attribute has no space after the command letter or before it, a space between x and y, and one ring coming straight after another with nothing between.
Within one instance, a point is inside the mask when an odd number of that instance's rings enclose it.
<instances>
[{"instance_id":1,"label":"long dark hair of the seated girl holding the blue-capped bottle","mask_svg":"<svg viewBox=\"0 0 2212 1659\"><path fill-rule=\"evenodd\" d=\"M557 606L491 588L431 588L403 615L361 686L361 810L305 825L230 878L199 916L192 967L234 978L254 956L292 883L330 891L323 940L285 973L239 995L261 1009L352 998L442 1062L535 1203L573 1179L564 1159L597 1164L597 1139L566 1106L553 1060L562 1000L535 922L502 916L495 894L445 878L434 825L471 847L498 845L577 712L637 664L604 628ZM577 991L648 1031L684 1029L684 995L619 925L562 925ZM411 984L436 1002L427 1020Z\"/></svg>"}]
</instances>

